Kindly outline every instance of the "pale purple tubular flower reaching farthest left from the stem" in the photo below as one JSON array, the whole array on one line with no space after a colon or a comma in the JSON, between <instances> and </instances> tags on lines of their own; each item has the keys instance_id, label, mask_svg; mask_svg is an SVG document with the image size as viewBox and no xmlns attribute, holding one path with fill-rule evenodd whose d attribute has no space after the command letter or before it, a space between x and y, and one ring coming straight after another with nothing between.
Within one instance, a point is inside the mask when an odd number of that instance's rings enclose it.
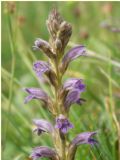
<instances>
[{"instance_id":1,"label":"pale purple tubular flower reaching farthest left from the stem","mask_svg":"<svg viewBox=\"0 0 120 160\"><path fill-rule=\"evenodd\" d=\"M29 93L29 95L25 98L24 103L28 103L32 99L39 99L46 103L50 101L47 93L39 88L25 88L24 90Z\"/></svg>"}]
</instances>

